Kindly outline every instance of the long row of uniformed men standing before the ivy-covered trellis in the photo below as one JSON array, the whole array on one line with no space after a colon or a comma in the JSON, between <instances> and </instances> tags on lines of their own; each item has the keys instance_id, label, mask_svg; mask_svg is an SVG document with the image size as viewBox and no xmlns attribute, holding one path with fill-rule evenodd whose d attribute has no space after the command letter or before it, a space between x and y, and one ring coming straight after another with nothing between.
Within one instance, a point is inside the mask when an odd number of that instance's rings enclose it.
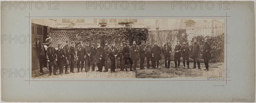
<instances>
[{"instance_id":1,"label":"long row of uniformed men standing before the ivy-covered trellis","mask_svg":"<svg viewBox=\"0 0 256 103\"><path fill-rule=\"evenodd\" d=\"M48 34L49 35L49 34ZM50 40L50 41L49 41ZM210 50L211 47L207 43L207 39L204 40L203 48L203 58L206 65L206 69L209 70L208 62L211 58ZM65 74L70 72L75 73L74 71L74 59L77 59L77 72L88 72L90 70L90 65L92 65L91 71L95 70L95 66L98 67L99 72L102 72L103 66L105 66L104 72L108 72L108 68L111 69L111 72L116 72L116 60L120 62L120 71L128 71L128 65L130 71L134 71L137 68L137 61L140 59L140 70L144 70L144 62L146 58L147 69L149 69L151 61L152 68L159 68L159 60L162 59L160 54L163 53L164 63L166 68L170 68L171 62L171 53L172 46L169 44L169 39L166 39L166 44L163 47L157 45L157 41L154 41L153 46L151 47L149 42L141 41L141 45L137 45L135 41L130 46L130 42L121 43L119 47L116 47L115 42L111 42L111 45L107 41L104 42L104 48L100 43L92 43L89 47L89 42L86 42L85 46L83 42L79 42L77 50L75 50L75 42L66 41L66 45L62 47L61 44L58 44L58 50L55 50L53 47L51 39L48 39L48 42L44 45L47 45L47 61L49 63L49 75L52 75L52 66L53 66L53 75L58 75L57 67L60 71L60 75L63 75L63 67L65 67ZM77 53L76 53L77 51ZM183 42L183 45L180 45L180 41L177 40L177 45L174 48L174 62L175 67L180 67L180 58L183 58L183 68L186 69L185 63L187 64L187 69L191 70L189 67L189 55L191 54L194 61L194 67L196 68L196 62L198 64L198 69L200 68L199 56L201 54L200 45L197 43L196 39L193 40L191 50L187 45L187 42ZM108 60L111 61L110 67L108 67ZM81 68L80 68L81 63ZM84 63L87 67L84 67ZM68 66L70 65L70 72L67 71Z\"/></svg>"}]
</instances>

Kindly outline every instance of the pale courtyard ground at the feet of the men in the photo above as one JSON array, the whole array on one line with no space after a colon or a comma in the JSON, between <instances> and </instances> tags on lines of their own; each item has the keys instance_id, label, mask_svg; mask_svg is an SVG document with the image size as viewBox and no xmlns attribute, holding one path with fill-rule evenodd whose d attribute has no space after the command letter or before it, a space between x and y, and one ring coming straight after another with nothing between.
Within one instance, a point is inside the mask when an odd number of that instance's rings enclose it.
<instances>
[{"instance_id":1,"label":"pale courtyard ground at the feet of the men","mask_svg":"<svg viewBox=\"0 0 256 103\"><path fill-rule=\"evenodd\" d=\"M192 65L190 67L192 68ZM201 68L205 69L204 63L201 63ZM39 70L32 70L32 78L223 78L224 63L209 63L209 71L207 72L197 68L192 70L183 69L183 64L177 70L172 67L167 69L160 66L159 69L139 70L137 68L136 72L119 71L120 69L118 68L118 72L112 73L110 69L108 69L108 72L77 72L77 68L75 68L76 73L64 73L63 75L53 75L52 73L51 76L49 76L48 68L43 68L43 70L44 75L38 75ZM96 70L98 70L97 67ZM70 71L70 68L68 68L68 71Z\"/></svg>"}]
</instances>

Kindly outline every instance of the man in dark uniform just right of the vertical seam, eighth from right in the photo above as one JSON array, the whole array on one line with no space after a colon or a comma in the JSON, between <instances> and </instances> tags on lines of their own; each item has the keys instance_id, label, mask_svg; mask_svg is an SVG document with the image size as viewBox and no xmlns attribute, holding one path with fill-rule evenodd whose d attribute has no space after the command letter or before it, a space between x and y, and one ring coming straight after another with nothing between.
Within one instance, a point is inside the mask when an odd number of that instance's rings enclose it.
<instances>
[{"instance_id":1,"label":"man in dark uniform just right of the vertical seam, eighth from right","mask_svg":"<svg viewBox=\"0 0 256 103\"><path fill-rule=\"evenodd\" d=\"M141 41L141 45L140 45L140 70L144 70L144 61L145 61L145 41L142 40Z\"/></svg>"}]
</instances>

